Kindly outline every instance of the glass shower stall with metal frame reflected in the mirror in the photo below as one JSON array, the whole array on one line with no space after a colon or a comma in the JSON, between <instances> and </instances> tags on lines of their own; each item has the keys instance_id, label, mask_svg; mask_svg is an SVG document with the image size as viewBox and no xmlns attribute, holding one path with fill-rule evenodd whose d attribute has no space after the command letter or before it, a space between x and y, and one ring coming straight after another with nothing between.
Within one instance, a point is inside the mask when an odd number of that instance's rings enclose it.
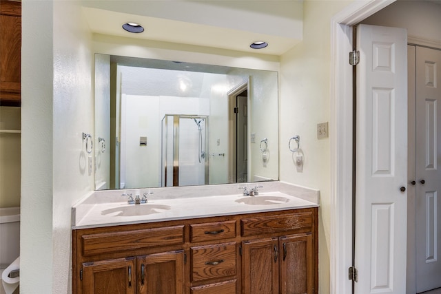
<instances>
[{"instance_id":1,"label":"glass shower stall with metal frame reflected in the mirror","mask_svg":"<svg viewBox=\"0 0 441 294\"><path fill-rule=\"evenodd\" d=\"M166 114L161 122L161 186L208 184L207 116Z\"/></svg>"}]
</instances>

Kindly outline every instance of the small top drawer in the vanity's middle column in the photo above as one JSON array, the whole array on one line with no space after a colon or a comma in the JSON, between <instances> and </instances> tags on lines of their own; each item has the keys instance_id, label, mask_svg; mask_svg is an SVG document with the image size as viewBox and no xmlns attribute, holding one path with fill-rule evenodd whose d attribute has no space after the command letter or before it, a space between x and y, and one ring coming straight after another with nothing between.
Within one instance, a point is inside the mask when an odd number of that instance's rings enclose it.
<instances>
[{"instance_id":1,"label":"small top drawer in the vanity's middle column","mask_svg":"<svg viewBox=\"0 0 441 294\"><path fill-rule=\"evenodd\" d=\"M236 220L190 224L190 241L201 242L236 237Z\"/></svg>"}]
</instances>

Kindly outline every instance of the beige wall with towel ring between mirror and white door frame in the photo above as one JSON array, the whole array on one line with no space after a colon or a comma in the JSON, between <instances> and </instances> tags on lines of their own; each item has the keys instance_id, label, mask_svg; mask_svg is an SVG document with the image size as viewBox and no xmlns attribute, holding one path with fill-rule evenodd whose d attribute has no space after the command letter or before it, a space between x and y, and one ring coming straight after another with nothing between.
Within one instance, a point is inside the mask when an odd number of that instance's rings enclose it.
<instances>
[{"instance_id":1,"label":"beige wall with towel ring between mirror and white door frame","mask_svg":"<svg viewBox=\"0 0 441 294\"><path fill-rule=\"evenodd\" d=\"M304 3L303 41L280 59L280 180L320 190L319 293L329 291L329 138L317 139L317 123L330 117L331 17L352 1ZM329 136L334 130L329 129ZM288 140L300 136L305 163L296 171Z\"/></svg>"}]
</instances>

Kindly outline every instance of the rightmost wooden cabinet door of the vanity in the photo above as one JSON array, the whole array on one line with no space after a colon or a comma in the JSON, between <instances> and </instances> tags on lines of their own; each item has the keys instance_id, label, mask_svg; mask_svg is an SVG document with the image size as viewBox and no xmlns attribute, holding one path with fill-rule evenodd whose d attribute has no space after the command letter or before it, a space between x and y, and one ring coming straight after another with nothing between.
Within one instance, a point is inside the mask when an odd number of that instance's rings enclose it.
<instances>
[{"instance_id":1,"label":"rightmost wooden cabinet door of the vanity","mask_svg":"<svg viewBox=\"0 0 441 294\"><path fill-rule=\"evenodd\" d=\"M280 293L314 291L314 242L311 234L280 237Z\"/></svg>"}]
</instances>

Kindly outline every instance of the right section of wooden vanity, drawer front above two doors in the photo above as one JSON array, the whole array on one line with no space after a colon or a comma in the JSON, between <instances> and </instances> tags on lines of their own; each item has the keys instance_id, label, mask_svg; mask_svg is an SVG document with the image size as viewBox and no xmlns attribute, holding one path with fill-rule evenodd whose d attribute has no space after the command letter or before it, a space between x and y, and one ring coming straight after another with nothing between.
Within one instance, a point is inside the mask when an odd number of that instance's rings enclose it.
<instances>
[{"instance_id":1,"label":"right section of wooden vanity, drawer front above two doors","mask_svg":"<svg viewBox=\"0 0 441 294\"><path fill-rule=\"evenodd\" d=\"M268 235L243 241L244 294L315 293L315 218L305 211L241 221L243 235Z\"/></svg>"}]
</instances>

